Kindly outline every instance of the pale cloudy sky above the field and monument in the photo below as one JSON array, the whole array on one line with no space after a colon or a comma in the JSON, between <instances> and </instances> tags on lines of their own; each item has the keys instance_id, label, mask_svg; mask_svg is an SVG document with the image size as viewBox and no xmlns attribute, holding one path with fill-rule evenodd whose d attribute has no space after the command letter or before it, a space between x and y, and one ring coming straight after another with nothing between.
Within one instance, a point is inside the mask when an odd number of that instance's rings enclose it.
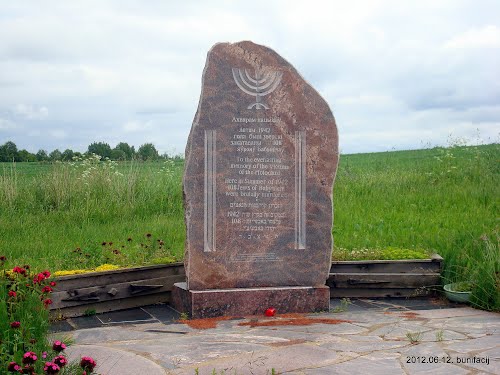
<instances>
[{"instance_id":1,"label":"pale cloudy sky above the field and monument","mask_svg":"<svg viewBox=\"0 0 500 375\"><path fill-rule=\"evenodd\" d=\"M183 153L207 51L241 40L323 95L343 153L499 141L497 0L0 0L0 144Z\"/></svg>"}]
</instances>

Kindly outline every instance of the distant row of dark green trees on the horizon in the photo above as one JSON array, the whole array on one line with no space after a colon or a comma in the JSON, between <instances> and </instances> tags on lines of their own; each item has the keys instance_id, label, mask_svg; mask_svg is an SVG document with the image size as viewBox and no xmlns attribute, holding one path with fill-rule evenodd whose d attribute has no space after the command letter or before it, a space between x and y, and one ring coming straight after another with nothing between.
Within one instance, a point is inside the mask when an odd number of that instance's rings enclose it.
<instances>
[{"instance_id":1,"label":"distant row of dark green trees on the horizon","mask_svg":"<svg viewBox=\"0 0 500 375\"><path fill-rule=\"evenodd\" d=\"M33 154L24 149L18 150L16 144L12 141L5 142L0 146L0 162L71 161L74 157L84 157L90 154L97 154L103 159L108 158L116 161L146 161L170 158L166 153L160 155L152 143L145 143L136 151L134 146L130 146L126 142L118 143L115 148L111 148L111 146L105 142L93 142L83 154L71 149L66 149L64 151L55 149L51 152L40 149L36 154Z\"/></svg>"}]
</instances>

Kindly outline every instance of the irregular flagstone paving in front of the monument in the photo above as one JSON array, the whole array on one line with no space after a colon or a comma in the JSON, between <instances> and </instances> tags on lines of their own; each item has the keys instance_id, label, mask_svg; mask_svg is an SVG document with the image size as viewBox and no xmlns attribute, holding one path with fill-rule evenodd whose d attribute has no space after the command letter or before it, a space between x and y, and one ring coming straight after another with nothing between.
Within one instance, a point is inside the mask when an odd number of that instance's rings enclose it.
<instances>
[{"instance_id":1,"label":"irregular flagstone paving in front of the monument","mask_svg":"<svg viewBox=\"0 0 500 375\"><path fill-rule=\"evenodd\" d=\"M309 314L339 324L239 317L215 328L178 322L168 305L73 318L53 326L70 359L93 356L100 374L500 374L500 314L440 300L353 300ZM332 300L332 309L340 301ZM292 319L293 320L293 319ZM274 372L273 372L274 371Z\"/></svg>"}]
</instances>

